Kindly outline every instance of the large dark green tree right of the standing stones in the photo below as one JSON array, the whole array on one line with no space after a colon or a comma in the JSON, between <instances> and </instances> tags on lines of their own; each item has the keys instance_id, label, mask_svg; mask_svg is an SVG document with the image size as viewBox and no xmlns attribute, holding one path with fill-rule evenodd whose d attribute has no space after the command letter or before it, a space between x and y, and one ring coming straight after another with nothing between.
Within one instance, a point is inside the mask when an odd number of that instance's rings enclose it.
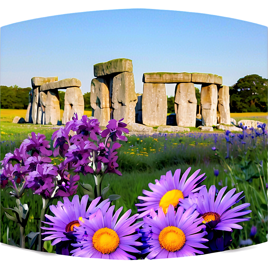
<instances>
[{"instance_id":1,"label":"large dark green tree right of the standing stones","mask_svg":"<svg viewBox=\"0 0 268 268\"><path fill-rule=\"evenodd\" d=\"M268 80L258 74L240 78L229 90L231 112L267 112Z\"/></svg>"}]
</instances>

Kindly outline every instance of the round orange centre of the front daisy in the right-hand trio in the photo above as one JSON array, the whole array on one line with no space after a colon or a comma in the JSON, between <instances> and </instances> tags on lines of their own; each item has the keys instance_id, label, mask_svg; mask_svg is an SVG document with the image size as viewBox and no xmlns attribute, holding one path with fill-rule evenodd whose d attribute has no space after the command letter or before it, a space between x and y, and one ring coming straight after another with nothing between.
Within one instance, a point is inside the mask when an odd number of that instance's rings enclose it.
<instances>
[{"instance_id":1,"label":"round orange centre of the front daisy in the right-hand trio","mask_svg":"<svg viewBox=\"0 0 268 268\"><path fill-rule=\"evenodd\" d=\"M158 240L162 249L174 252L185 244L185 234L178 227L168 226L160 232Z\"/></svg>"}]
</instances>

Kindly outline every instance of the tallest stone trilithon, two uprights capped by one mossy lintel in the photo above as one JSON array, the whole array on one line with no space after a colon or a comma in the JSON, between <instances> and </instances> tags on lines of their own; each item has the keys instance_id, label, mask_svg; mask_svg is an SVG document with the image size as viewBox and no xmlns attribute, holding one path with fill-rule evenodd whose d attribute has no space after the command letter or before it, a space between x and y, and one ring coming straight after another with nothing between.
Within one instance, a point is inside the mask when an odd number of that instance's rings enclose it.
<instances>
[{"instance_id":1,"label":"tallest stone trilithon, two uprights capped by one mossy lintel","mask_svg":"<svg viewBox=\"0 0 268 268\"><path fill-rule=\"evenodd\" d=\"M135 92L132 60L120 58L93 66L90 104L92 116L106 126L110 119L135 123Z\"/></svg>"}]
</instances>

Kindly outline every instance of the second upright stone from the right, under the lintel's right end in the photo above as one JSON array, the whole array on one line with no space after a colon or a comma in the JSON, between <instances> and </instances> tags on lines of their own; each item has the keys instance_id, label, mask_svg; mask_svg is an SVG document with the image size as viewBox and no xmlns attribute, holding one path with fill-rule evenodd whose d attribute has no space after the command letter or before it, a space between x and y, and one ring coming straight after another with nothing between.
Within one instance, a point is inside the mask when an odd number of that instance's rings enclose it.
<instances>
[{"instance_id":1,"label":"second upright stone from the right, under the lintel's right end","mask_svg":"<svg viewBox=\"0 0 268 268\"><path fill-rule=\"evenodd\" d=\"M218 90L215 84L202 85L201 87L201 108L202 125L217 125L217 102Z\"/></svg>"}]
</instances>

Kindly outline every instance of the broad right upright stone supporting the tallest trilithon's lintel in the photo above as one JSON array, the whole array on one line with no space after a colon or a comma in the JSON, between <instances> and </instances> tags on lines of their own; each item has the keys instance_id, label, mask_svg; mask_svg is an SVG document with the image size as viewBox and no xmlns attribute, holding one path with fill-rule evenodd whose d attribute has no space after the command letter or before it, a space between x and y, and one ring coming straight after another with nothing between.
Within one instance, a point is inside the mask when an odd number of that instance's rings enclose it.
<instances>
[{"instance_id":1,"label":"broad right upright stone supporting the tallest trilithon's lintel","mask_svg":"<svg viewBox=\"0 0 268 268\"><path fill-rule=\"evenodd\" d=\"M124 123L135 123L135 106L138 98L133 73L123 72L116 75L110 86L112 86L113 119L124 118Z\"/></svg>"}]
</instances>

